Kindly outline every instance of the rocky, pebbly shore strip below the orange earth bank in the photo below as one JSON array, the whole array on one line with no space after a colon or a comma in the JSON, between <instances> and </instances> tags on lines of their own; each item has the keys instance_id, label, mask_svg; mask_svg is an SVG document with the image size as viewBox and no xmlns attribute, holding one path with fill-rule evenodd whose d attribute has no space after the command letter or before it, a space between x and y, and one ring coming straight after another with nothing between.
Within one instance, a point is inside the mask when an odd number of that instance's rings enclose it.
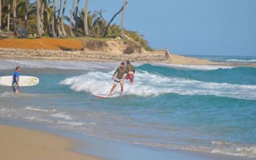
<instances>
[{"instance_id":1,"label":"rocky, pebbly shore strip below the orange earth bank","mask_svg":"<svg viewBox=\"0 0 256 160\"><path fill-rule=\"evenodd\" d=\"M91 60L119 62L130 60L133 62L158 62L170 63L164 52L154 53L106 53L99 51L62 51L62 50L27 50L0 48L2 58L28 58L28 59L52 59L52 60Z\"/></svg>"}]
</instances>

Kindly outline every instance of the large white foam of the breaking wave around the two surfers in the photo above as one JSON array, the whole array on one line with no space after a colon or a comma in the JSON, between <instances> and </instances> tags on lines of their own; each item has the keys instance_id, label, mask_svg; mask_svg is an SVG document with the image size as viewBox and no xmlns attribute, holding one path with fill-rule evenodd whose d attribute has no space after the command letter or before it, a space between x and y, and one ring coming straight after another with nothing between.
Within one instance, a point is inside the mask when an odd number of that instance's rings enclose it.
<instances>
[{"instance_id":1,"label":"large white foam of the breaking wave around the two surfers","mask_svg":"<svg viewBox=\"0 0 256 160\"><path fill-rule=\"evenodd\" d=\"M112 87L112 72L88 72L82 76L67 78L60 84L70 85L75 91L84 91L94 94L108 94ZM214 95L239 99L256 100L255 85L238 85L228 83L211 83L179 77L165 77L138 71L135 75L135 84L125 84L124 94L136 96L158 96L174 93L181 95ZM119 86L118 86L119 87ZM116 88L116 93L119 88Z\"/></svg>"}]
</instances>

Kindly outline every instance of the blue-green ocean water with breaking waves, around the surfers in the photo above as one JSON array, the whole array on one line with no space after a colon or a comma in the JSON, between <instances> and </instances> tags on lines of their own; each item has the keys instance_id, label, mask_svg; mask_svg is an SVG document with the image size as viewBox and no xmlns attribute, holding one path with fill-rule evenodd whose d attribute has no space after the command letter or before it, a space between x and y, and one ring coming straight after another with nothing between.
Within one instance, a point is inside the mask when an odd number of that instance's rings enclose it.
<instances>
[{"instance_id":1,"label":"blue-green ocean water with breaking waves, around the surfers","mask_svg":"<svg viewBox=\"0 0 256 160\"><path fill-rule=\"evenodd\" d=\"M0 76L21 66L20 75L40 79L38 86L20 87L20 94L0 86L0 120L167 150L256 158L256 68L135 63L134 85L126 81L122 96L92 96L109 93L118 65L0 60Z\"/></svg>"}]
</instances>

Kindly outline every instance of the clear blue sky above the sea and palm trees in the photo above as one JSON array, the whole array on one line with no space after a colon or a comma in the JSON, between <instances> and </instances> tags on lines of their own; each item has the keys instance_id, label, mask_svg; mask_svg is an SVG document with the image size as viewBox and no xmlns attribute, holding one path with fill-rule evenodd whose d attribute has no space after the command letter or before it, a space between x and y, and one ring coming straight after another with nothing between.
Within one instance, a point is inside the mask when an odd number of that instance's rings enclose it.
<instances>
[{"instance_id":1,"label":"clear blue sky above the sea and palm trees","mask_svg":"<svg viewBox=\"0 0 256 160\"><path fill-rule=\"evenodd\" d=\"M58 4L58 3L56 3ZM80 9L85 0L80 0ZM110 18L123 0L90 0ZM72 0L68 0L66 14ZM120 15L114 23L120 23ZM256 0L128 0L124 25L176 54L256 56Z\"/></svg>"}]
</instances>

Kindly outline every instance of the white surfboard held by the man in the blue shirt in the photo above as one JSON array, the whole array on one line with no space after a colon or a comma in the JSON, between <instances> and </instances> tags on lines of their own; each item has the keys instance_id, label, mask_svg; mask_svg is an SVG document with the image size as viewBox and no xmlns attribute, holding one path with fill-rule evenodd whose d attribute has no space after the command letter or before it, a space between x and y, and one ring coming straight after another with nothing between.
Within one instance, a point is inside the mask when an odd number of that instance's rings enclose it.
<instances>
[{"instance_id":1,"label":"white surfboard held by the man in the blue shirt","mask_svg":"<svg viewBox=\"0 0 256 160\"><path fill-rule=\"evenodd\" d=\"M19 76L19 85L21 87L35 86L38 83L39 83L39 79L37 77ZM12 86L12 76L0 77L0 85L1 86Z\"/></svg>"}]
</instances>

